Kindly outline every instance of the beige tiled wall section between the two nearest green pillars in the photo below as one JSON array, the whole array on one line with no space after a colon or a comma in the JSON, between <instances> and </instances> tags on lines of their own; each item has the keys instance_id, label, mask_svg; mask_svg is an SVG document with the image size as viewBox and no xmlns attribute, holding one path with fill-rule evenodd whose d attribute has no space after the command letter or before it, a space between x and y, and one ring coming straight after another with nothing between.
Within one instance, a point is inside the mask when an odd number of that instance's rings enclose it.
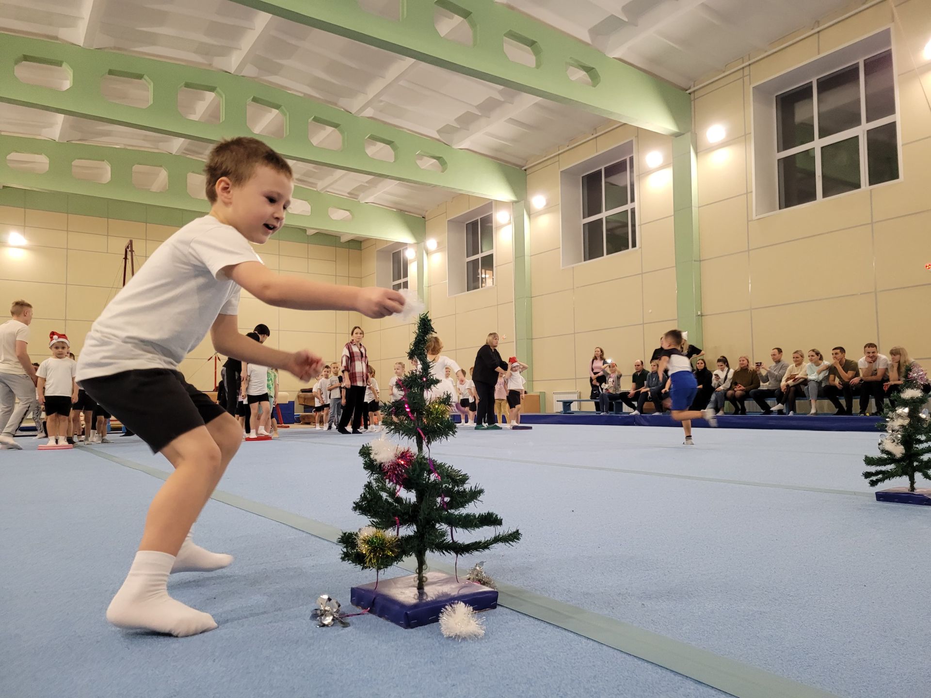
<instances>
[{"instance_id":1,"label":"beige tiled wall section between the two nearest green pillars","mask_svg":"<svg viewBox=\"0 0 931 698\"><path fill-rule=\"evenodd\" d=\"M626 141L634 141L640 246L563 268L560 170ZM651 151L663 154L664 164L654 170L643 162ZM629 376L634 361L649 358L659 335L675 326L671 160L670 138L623 126L528 170L529 195L547 202L531 214L534 390L587 396L596 345Z\"/></svg>"}]
</instances>

